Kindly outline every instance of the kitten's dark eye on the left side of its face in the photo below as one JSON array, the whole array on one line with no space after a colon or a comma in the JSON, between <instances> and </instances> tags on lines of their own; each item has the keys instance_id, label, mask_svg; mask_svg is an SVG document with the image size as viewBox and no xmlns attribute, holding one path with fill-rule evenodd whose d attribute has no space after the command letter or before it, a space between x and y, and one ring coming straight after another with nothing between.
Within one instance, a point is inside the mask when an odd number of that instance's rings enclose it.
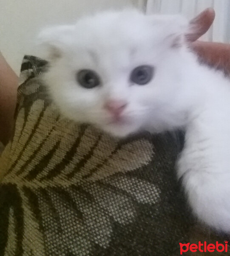
<instances>
[{"instance_id":1,"label":"kitten's dark eye on the left side of its face","mask_svg":"<svg viewBox=\"0 0 230 256\"><path fill-rule=\"evenodd\" d=\"M80 70L76 79L82 87L91 89L100 84L99 76L93 70Z\"/></svg>"}]
</instances>

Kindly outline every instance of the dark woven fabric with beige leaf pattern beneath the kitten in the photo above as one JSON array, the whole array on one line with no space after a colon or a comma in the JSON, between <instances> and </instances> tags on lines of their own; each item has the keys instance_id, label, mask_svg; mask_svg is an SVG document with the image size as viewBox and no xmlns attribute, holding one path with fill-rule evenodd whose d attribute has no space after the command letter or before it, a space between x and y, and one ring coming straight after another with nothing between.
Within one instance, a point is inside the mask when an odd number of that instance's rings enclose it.
<instances>
[{"instance_id":1,"label":"dark woven fabric with beige leaf pattern beneath the kitten","mask_svg":"<svg viewBox=\"0 0 230 256\"><path fill-rule=\"evenodd\" d=\"M25 56L0 157L0 256L174 256L194 221L176 180L181 135L116 140L60 116Z\"/></svg>"}]
</instances>

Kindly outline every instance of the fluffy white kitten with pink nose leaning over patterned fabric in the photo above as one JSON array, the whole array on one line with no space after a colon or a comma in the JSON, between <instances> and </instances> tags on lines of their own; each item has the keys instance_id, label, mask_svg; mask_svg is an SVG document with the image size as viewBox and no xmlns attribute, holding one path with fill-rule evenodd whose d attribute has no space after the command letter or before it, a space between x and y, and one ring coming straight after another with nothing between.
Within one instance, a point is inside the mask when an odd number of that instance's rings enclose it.
<instances>
[{"instance_id":1,"label":"fluffy white kitten with pink nose leaning over patterned fabric","mask_svg":"<svg viewBox=\"0 0 230 256\"><path fill-rule=\"evenodd\" d=\"M104 12L40 35L65 116L116 136L183 128L178 162L194 213L230 232L230 82L188 49L179 16Z\"/></svg>"}]
</instances>

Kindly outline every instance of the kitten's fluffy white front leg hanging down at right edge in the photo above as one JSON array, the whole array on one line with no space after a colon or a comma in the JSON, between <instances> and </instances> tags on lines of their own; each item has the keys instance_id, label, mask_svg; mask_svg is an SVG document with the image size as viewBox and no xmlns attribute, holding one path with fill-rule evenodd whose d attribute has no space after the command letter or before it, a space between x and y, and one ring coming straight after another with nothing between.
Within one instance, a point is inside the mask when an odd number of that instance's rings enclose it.
<instances>
[{"instance_id":1,"label":"kitten's fluffy white front leg hanging down at right edge","mask_svg":"<svg viewBox=\"0 0 230 256\"><path fill-rule=\"evenodd\" d=\"M219 111L204 111L187 126L178 176L199 220L230 233L230 113Z\"/></svg>"}]
</instances>

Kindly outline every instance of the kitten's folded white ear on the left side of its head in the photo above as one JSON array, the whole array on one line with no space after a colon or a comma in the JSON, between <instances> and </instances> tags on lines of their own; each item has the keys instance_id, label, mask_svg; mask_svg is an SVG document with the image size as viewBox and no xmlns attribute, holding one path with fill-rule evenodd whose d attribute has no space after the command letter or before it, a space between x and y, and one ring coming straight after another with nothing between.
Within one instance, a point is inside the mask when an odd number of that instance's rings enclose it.
<instances>
[{"instance_id":1,"label":"kitten's folded white ear on the left side of its head","mask_svg":"<svg viewBox=\"0 0 230 256\"><path fill-rule=\"evenodd\" d=\"M37 46L42 52L41 57L48 61L60 58L71 42L73 31L74 26L56 26L41 31L37 37Z\"/></svg>"}]
</instances>

